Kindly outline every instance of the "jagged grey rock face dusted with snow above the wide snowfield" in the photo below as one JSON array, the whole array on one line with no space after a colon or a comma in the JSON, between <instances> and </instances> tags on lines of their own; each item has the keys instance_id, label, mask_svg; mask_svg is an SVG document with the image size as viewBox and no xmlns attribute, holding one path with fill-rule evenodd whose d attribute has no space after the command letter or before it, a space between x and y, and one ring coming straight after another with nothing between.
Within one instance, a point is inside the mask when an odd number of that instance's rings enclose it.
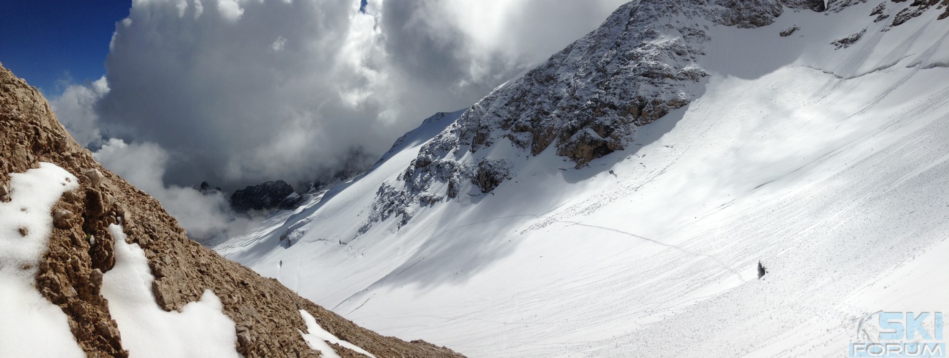
<instances>
[{"instance_id":1,"label":"jagged grey rock face dusted with snow above the wide snowfield","mask_svg":"<svg viewBox=\"0 0 949 358\"><path fill-rule=\"evenodd\" d=\"M456 198L467 182L492 191L510 173L504 158L477 154L508 145L537 156L587 165L636 139L639 126L683 107L707 76L698 63L710 26L770 25L784 7L824 9L823 0L643 0L614 11L604 24L523 77L496 88L426 143L399 182L377 192L361 233L387 217L414 214L416 204ZM499 143L504 144L499 144ZM466 153L472 156L465 157ZM503 174L502 174L503 173ZM434 182L447 191L430 192ZM419 199L424 198L424 199Z\"/></svg>"}]
</instances>

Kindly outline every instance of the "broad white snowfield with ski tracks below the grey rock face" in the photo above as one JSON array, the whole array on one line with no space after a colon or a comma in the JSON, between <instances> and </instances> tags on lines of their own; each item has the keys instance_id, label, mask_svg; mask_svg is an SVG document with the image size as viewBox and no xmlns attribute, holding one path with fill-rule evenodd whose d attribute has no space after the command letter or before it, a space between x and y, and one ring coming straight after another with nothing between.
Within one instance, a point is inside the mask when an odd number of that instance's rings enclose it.
<instances>
[{"instance_id":1,"label":"broad white snowfield with ski tracks below the grey rock face","mask_svg":"<svg viewBox=\"0 0 949 358\"><path fill-rule=\"evenodd\" d=\"M285 225L293 246L219 250L469 356L846 355L855 317L949 311L949 22L883 31L876 5L710 25L703 95L586 168L499 142L516 175L492 194L356 236L409 146Z\"/></svg>"}]
</instances>

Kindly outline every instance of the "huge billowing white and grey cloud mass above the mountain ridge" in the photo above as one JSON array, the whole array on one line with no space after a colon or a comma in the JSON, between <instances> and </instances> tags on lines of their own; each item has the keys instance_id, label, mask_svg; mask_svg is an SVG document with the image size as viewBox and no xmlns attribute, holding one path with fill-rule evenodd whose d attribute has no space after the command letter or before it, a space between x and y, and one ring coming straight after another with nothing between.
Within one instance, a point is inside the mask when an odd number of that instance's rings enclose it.
<instances>
[{"instance_id":1,"label":"huge billowing white and grey cloud mass above the mountain ridge","mask_svg":"<svg viewBox=\"0 0 949 358\"><path fill-rule=\"evenodd\" d=\"M135 0L91 114L106 137L163 148L177 185L326 179L352 153L377 156L432 113L473 104L621 2L370 1L363 13L359 1Z\"/></svg>"}]
</instances>

